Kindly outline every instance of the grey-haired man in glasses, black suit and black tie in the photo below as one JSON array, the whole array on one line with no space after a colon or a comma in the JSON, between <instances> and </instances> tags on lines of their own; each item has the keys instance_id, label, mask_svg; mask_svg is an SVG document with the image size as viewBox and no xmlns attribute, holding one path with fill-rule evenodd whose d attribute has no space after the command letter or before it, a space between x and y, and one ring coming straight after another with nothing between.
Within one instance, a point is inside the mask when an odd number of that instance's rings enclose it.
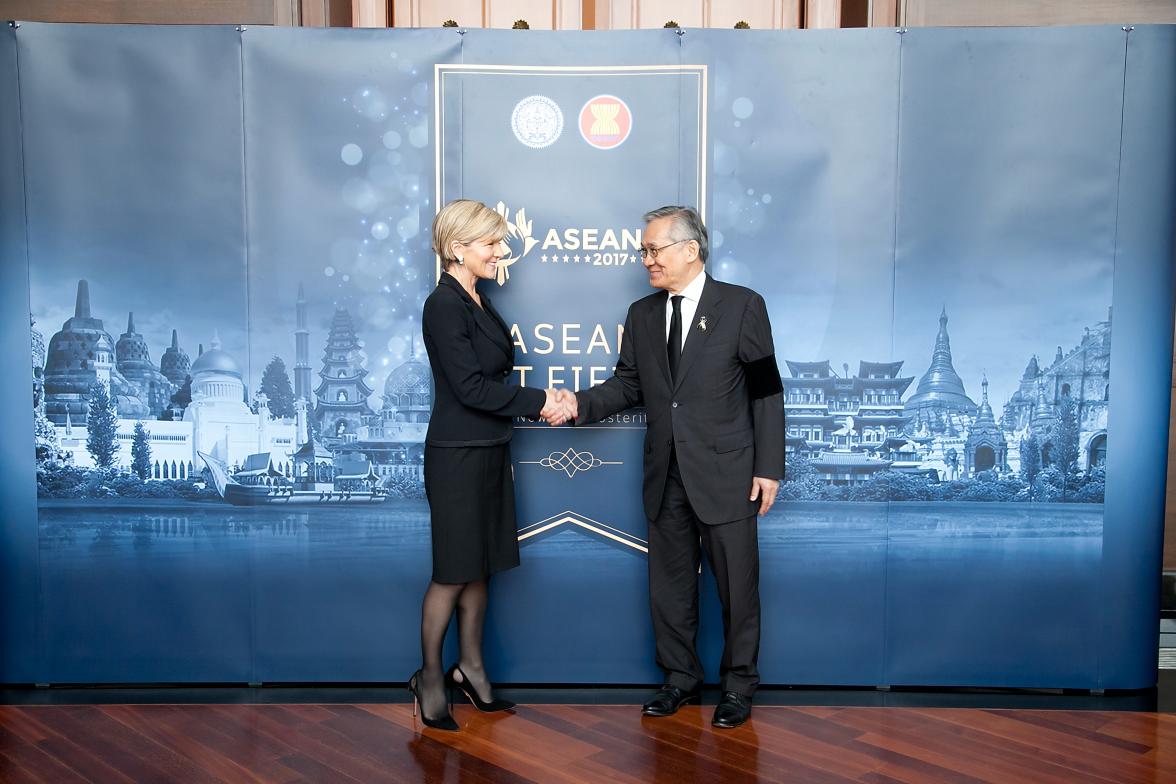
<instances>
[{"instance_id":1,"label":"grey-haired man in glasses, black suit and black tie","mask_svg":"<svg viewBox=\"0 0 1176 784\"><path fill-rule=\"evenodd\" d=\"M576 424L644 404L649 603L666 684L646 716L699 698L700 540L723 607L722 698L711 724L739 726L760 682L756 512L784 470L784 411L763 297L703 272L707 229L689 207L644 216L641 257L656 294L634 302L613 377L568 400ZM570 398L570 395L568 396Z\"/></svg>"}]
</instances>

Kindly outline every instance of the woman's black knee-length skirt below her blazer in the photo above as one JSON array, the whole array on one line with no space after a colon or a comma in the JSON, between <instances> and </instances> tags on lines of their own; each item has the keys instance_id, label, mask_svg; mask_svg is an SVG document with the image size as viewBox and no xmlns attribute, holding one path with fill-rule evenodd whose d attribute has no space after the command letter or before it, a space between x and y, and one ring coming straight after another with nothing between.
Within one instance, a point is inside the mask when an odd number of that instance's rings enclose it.
<instances>
[{"instance_id":1,"label":"woman's black knee-length skirt below her blazer","mask_svg":"<svg viewBox=\"0 0 1176 784\"><path fill-rule=\"evenodd\" d=\"M433 582L468 583L519 565L510 444L425 447Z\"/></svg>"}]
</instances>

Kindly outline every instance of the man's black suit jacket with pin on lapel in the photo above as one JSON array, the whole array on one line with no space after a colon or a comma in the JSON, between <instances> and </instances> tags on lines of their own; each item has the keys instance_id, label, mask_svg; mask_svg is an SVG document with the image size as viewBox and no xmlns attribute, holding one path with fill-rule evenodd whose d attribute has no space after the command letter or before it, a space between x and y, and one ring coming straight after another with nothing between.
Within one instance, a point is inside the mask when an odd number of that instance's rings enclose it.
<instances>
[{"instance_id":1,"label":"man's black suit jacket with pin on lapel","mask_svg":"<svg viewBox=\"0 0 1176 784\"><path fill-rule=\"evenodd\" d=\"M784 473L784 402L763 297L707 280L670 384L666 292L629 307L613 377L577 393L576 424L642 402L646 516L661 508L671 451L695 514L707 524L755 515L751 477ZM706 328L702 327L706 324Z\"/></svg>"}]
</instances>

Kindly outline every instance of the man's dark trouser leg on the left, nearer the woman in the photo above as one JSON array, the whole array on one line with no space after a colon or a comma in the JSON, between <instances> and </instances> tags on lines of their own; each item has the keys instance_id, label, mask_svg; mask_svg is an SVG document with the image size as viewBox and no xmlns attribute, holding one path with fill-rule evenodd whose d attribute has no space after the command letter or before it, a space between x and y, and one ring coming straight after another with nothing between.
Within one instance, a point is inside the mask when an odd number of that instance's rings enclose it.
<instances>
[{"instance_id":1,"label":"man's dark trouser leg on the left, nearer the woman","mask_svg":"<svg viewBox=\"0 0 1176 784\"><path fill-rule=\"evenodd\" d=\"M702 685L699 635L699 524L676 461L670 462L657 518L649 524L649 608L657 666L682 691Z\"/></svg>"}]
</instances>

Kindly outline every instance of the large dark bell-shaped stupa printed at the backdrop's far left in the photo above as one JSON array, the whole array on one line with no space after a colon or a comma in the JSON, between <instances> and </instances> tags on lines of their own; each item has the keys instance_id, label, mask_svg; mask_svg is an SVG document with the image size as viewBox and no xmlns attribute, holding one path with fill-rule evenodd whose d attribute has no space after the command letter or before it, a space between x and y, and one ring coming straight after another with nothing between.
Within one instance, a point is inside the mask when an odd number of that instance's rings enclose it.
<instances>
[{"instance_id":1,"label":"large dark bell-shaped stupa printed at the backdrop's far left","mask_svg":"<svg viewBox=\"0 0 1176 784\"><path fill-rule=\"evenodd\" d=\"M45 414L54 424L83 424L89 411L89 388L109 388L119 416L141 418L151 409L139 389L115 367L114 340L89 310L89 283L78 281L74 315L49 339L45 356Z\"/></svg>"}]
</instances>

